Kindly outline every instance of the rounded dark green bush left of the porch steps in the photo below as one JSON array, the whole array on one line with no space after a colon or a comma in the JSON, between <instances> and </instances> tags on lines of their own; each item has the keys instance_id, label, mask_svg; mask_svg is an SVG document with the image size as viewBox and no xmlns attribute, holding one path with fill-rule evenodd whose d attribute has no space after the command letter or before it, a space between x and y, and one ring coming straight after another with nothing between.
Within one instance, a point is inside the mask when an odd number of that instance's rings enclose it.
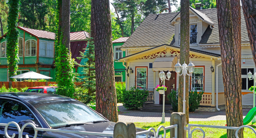
<instances>
[{"instance_id":1,"label":"rounded dark green bush left of the porch steps","mask_svg":"<svg viewBox=\"0 0 256 138\"><path fill-rule=\"evenodd\" d=\"M138 109L143 106L143 103L147 100L147 96L147 90L135 89L135 87L132 87L130 90L123 93L123 106L127 109Z\"/></svg>"}]
</instances>

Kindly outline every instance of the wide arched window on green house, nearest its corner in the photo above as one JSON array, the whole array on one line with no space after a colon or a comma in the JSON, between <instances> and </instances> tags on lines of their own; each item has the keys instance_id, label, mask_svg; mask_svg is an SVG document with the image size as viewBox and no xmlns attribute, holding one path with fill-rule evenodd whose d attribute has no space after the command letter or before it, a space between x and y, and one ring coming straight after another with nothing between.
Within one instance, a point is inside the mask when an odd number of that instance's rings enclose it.
<instances>
[{"instance_id":1,"label":"wide arched window on green house, nearest its corner","mask_svg":"<svg viewBox=\"0 0 256 138\"><path fill-rule=\"evenodd\" d=\"M36 56L36 41L28 40L25 42L25 56Z\"/></svg>"}]
</instances>

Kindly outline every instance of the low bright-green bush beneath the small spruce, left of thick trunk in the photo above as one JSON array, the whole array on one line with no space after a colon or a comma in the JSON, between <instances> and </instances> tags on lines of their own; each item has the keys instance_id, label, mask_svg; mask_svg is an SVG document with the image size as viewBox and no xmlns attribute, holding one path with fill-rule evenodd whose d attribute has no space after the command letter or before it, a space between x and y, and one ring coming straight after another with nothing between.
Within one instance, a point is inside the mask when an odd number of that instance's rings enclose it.
<instances>
[{"instance_id":1,"label":"low bright-green bush beneath the small spruce, left of thick trunk","mask_svg":"<svg viewBox=\"0 0 256 138\"><path fill-rule=\"evenodd\" d=\"M74 98L84 104L95 102L95 92L89 94L87 89L76 87L74 92Z\"/></svg>"}]
</instances>

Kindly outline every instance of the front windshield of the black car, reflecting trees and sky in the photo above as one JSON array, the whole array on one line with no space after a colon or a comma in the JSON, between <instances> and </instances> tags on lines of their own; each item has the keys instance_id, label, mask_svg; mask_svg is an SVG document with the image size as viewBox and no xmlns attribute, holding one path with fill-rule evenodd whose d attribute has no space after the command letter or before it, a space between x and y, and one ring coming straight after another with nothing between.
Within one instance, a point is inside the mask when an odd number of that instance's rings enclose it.
<instances>
[{"instance_id":1,"label":"front windshield of the black car, reflecting trees and sky","mask_svg":"<svg viewBox=\"0 0 256 138\"><path fill-rule=\"evenodd\" d=\"M51 127L106 120L76 100L41 100L29 103L37 109Z\"/></svg>"}]
</instances>

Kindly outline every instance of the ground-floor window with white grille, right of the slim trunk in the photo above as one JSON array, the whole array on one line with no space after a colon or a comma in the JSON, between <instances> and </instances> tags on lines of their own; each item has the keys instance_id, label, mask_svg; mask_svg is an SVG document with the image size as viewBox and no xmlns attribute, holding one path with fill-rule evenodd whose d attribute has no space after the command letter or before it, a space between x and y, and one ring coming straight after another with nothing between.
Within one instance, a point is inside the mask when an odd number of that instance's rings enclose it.
<instances>
[{"instance_id":1,"label":"ground-floor window with white grille, right of the slim trunk","mask_svg":"<svg viewBox=\"0 0 256 138\"><path fill-rule=\"evenodd\" d=\"M191 76L191 90L203 90L204 85L204 74L203 74L203 67L195 67L194 72Z\"/></svg>"}]
</instances>

